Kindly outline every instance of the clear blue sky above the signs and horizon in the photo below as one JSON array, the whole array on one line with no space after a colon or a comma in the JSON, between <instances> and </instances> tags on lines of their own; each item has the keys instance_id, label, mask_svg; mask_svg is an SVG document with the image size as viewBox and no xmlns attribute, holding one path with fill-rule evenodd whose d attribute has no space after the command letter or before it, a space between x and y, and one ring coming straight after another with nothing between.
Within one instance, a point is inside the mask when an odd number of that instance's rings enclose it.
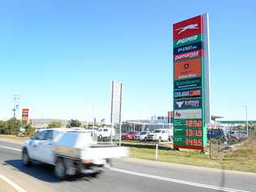
<instances>
[{"instance_id":1,"label":"clear blue sky above the signs and horizon","mask_svg":"<svg viewBox=\"0 0 256 192\"><path fill-rule=\"evenodd\" d=\"M172 25L209 13L211 113L256 119L254 1L5 1L0 6L0 119L19 94L31 117L109 118L110 83L123 118L173 105Z\"/></svg>"}]
</instances>

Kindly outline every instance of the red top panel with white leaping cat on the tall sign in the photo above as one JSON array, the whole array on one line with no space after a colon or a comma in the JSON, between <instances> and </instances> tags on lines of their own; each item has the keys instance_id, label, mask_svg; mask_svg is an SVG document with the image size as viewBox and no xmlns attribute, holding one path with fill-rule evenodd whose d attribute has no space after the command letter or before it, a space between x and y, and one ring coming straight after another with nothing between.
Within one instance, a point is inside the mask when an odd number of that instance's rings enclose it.
<instances>
[{"instance_id":1,"label":"red top panel with white leaping cat on the tall sign","mask_svg":"<svg viewBox=\"0 0 256 192\"><path fill-rule=\"evenodd\" d=\"M202 33L202 16L186 19L173 25L173 40Z\"/></svg>"}]
</instances>

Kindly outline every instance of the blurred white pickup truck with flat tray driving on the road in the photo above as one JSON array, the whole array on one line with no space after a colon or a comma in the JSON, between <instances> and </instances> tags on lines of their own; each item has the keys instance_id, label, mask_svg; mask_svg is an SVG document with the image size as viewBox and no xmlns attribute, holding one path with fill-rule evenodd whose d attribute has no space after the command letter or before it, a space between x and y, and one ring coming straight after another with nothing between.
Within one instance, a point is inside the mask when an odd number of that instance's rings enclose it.
<instances>
[{"instance_id":1,"label":"blurred white pickup truck with flat tray driving on the road","mask_svg":"<svg viewBox=\"0 0 256 192\"><path fill-rule=\"evenodd\" d=\"M100 167L111 158L129 156L127 147L117 147L111 143L97 143L97 133L81 129L46 129L23 143L23 164L32 160L54 165L54 173L59 179L76 173L100 173Z\"/></svg>"}]
</instances>

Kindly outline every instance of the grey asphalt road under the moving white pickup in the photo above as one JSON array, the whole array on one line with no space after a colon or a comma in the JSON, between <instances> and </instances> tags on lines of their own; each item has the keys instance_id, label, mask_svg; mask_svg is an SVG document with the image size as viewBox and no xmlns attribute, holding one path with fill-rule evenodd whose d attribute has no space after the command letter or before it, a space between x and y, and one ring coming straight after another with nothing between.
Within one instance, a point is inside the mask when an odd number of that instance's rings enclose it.
<instances>
[{"instance_id":1,"label":"grey asphalt road under the moving white pickup","mask_svg":"<svg viewBox=\"0 0 256 192\"><path fill-rule=\"evenodd\" d=\"M72 177L58 181L53 167L36 163L24 167L21 145L0 141L0 175L13 177L26 191L256 191L256 174L205 169L147 160L113 160L99 177Z\"/></svg>"}]
</instances>

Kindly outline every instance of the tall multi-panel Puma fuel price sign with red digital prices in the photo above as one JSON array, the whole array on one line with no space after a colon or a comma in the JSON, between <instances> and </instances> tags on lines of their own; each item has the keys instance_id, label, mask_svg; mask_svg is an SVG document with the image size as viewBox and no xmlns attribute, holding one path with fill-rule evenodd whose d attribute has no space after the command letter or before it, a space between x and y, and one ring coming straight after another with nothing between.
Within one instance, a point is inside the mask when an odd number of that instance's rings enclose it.
<instances>
[{"instance_id":1,"label":"tall multi-panel Puma fuel price sign with red digital prices","mask_svg":"<svg viewBox=\"0 0 256 192\"><path fill-rule=\"evenodd\" d=\"M173 24L173 147L207 150L210 123L208 14Z\"/></svg>"}]
</instances>

